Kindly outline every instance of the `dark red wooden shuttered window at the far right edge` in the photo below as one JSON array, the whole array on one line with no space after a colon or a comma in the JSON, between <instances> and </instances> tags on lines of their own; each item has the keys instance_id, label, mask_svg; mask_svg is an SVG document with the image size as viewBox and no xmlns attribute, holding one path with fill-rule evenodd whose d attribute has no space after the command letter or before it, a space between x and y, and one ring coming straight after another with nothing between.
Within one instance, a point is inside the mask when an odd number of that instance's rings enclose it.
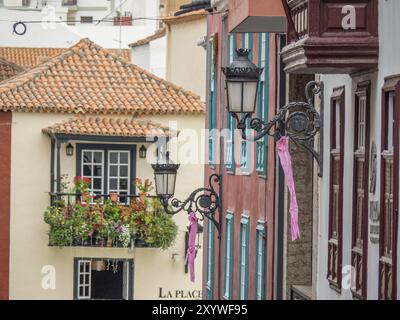
<instances>
[{"instance_id":1,"label":"dark red wooden shuttered window at the far right edge","mask_svg":"<svg viewBox=\"0 0 400 320\"><path fill-rule=\"evenodd\" d=\"M381 217L379 299L397 299L397 219L399 205L400 76L382 90ZM392 110L390 110L392 108Z\"/></svg>"}]
</instances>

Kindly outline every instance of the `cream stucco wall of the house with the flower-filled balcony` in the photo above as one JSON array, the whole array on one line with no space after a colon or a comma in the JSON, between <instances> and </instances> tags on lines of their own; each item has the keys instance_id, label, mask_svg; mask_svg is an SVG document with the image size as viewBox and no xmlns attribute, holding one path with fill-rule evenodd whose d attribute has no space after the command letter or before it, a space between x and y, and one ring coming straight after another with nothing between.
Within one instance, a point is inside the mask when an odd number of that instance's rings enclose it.
<instances>
[{"instance_id":1,"label":"cream stucco wall of the house with the flower-filled balcony","mask_svg":"<svg viewBox=\"0 0 400 320\"><path fill-rule=\"evenodd\" d=\"M48 246L48 226L43 221L43 213L49 205L51 143L41 130L70 117L63 114L13 113L10 298L72 299L74 257L134 259L134 299L157 299L160 287L164 292L201 290L202 250L196 259L196 282L191 283L189 275L184 273L184 232L188 226L185 213L175 216L179 235L175 245L166 251L147 248L134 249L133 252L124 248L60 249ZM200 132L204 127L203 116L152 116L142 119L164 125L168 125L170 120L177 120L179 130L191 128ZM73 178L75 157L65 155L65 145L61 155L61 172ZM137 159L137 176L153 179L153 171L146 160ZM188 192L203 185L203 181L201 165L181 166L176 196L181 199L187 197ZM174 253L178 255L172 259ZM41 270L45 265L56 269L56 290L42 289Z\"/></svg>"}]
</instances>

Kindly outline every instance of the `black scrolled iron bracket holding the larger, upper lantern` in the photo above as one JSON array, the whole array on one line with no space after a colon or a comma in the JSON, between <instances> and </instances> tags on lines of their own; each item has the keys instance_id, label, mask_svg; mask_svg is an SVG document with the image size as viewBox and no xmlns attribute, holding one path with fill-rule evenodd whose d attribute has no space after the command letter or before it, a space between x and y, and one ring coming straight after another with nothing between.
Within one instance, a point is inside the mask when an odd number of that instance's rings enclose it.
<instances>
[{"instance_id":1,"label":"black scrolled iron bracket holding the larger, upper lantern","mask_svg":"<svg viewBox=\"0 0 400 320\"><path fill-rule=\"evenodd\" d=\"M314 97L321 97L321 113L314 106ZM310 81L305 87L307 102L291 102L279 109L278 114L270 121L263 121L258 118L250 120L250 128L247 128L247 119L251 113L245 114L239 119L237 114L233 116L237 120L237 128L241 130L242 138L248 141L257 141L266 135L279 140L282 136L287 136L295 144L308 150L319 166L318 175L322 177L322 147L323 147L323 83ZM254 136L248 136L246 130L252 129L256 132ZM320 143L318 150L314 148L314 138L318 132Z\"/></svg>"}]
</instances>

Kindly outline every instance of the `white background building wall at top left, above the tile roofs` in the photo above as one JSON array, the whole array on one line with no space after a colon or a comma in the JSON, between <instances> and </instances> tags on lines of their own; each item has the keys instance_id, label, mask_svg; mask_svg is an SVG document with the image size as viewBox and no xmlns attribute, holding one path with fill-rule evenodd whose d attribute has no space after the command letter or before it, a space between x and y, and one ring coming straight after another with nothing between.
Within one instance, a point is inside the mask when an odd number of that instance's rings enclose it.
<instances>
[{"instance_id":1,"label":"white background building wall at top left, above the tile roofs","mask_svg":"<svg viewBox=\"0 0 400 320\"><path fill-rule=\"evenodd\" d=\"M9 0L10 1L10 0ZM125 11L133 12L134 18L157 18L159 0L148 0L144 3L141 0L128 1L123 6ZM11 2L10 2L11 3ZM35 6L36 1L32 1ZM119 1L116 1L118 6ZM7 3L5 3L7 6ZM8 4L11 6L11 4ZM79 1L76 20L81 16L93 16L93 19L103 19L110 10L97 10L96 7L110 6L109 1ZM140 10L139 10L140 8ZM54 10L53 10L54 9ZM82 10L83 9L83 10ZM155 32L158 28L158 21L154 19L137 20L132 26L114 26L112 22L100 24L80 24L69 26L65 23L29 23L27 32L24 35L13 34L14 21L54 21L67 19L68 7L61 6L61 1L54 2L38 10L12 10L10 7L0 9L0 44L2 46L14 47L54 47L68 48L78 42L81 38L90 38L92 41L104 48L128 48L128 44L145 38ZM112 13L108 19L116 14Z\"/></svg>"}]
</instances>

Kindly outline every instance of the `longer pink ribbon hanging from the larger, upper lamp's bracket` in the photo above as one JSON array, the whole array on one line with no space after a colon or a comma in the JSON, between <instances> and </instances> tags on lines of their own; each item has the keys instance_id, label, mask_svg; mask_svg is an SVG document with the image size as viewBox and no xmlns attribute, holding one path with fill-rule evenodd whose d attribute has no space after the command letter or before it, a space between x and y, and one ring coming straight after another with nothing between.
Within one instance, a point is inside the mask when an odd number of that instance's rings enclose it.
<instances>
[{"instance_id":1,"label":"longer pink ribbon hanging from the larger, upper lamp's bracket","mask_svg":"<svg viewBox=\"0 0 400 320\"><path fill-rule=\"evenodd\" d=\"M290 193L290 227L292 234L292 241L300 237L299 230L299 207L297 205L296 189L294 186L292 159L289 153L288 141L289 138L282 137L279 139L276 148L278 150L279 159L285 173L286 184Z\"/></svg>"}]
</instances>

